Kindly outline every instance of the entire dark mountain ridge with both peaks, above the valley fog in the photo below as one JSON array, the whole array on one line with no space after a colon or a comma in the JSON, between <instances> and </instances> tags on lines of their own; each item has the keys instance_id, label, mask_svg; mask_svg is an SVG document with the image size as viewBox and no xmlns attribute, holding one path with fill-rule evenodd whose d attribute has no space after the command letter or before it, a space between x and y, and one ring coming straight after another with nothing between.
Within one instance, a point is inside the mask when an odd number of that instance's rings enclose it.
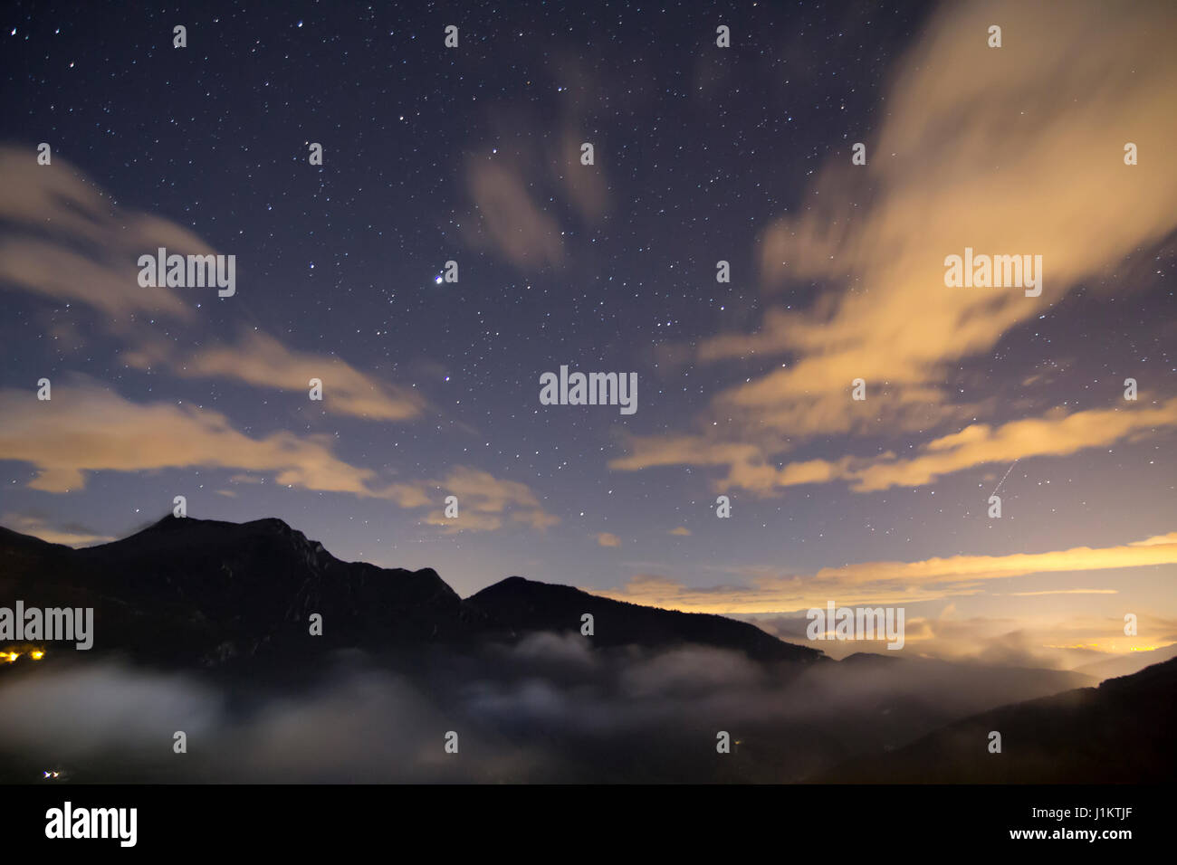
<instances>
[{"instance_id":1,"label":"entire dark mountain ridge with both peaks, above the valley fog","mask_svg":"<svg viewBox=\"0 0 1177 865\"><path fill-rule=\"evenodd\" d=\"M597 618L597 646L696 643L758 660L824 658L720 616L643 607L520 577L464 601L431 568L340 561L279 519L235 524L168 515L84 550L0 528L0 603L15 599L94 607L97 650L157 663L512 641L534 631L579 631L586 612ZM322 616L321 637L310 637L312 613Z\"/></svg>"}]
</instances>

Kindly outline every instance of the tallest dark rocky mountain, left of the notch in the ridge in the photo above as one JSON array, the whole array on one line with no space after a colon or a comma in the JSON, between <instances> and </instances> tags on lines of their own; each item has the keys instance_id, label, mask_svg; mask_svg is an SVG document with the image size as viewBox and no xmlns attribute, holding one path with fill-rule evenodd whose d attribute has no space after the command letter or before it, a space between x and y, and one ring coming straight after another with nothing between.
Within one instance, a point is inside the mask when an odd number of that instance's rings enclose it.
<instances>
[{"instance_id":1,"label":"tallest dark rocky mountain, left of the notch in the ridge","mask_svg":"<svg viewBox=\"0 0 1177 865\"><path fill-rule=\"evenodd\" d=\"M166 517L85 550L4 530L0 598L93 607L94 646L159 663L213 664L261 648L373 648L461 633L463 604L438 574L343 563L278 519ZM310 617L322 636L310 637Z\"/></svg>"}]
</instances>

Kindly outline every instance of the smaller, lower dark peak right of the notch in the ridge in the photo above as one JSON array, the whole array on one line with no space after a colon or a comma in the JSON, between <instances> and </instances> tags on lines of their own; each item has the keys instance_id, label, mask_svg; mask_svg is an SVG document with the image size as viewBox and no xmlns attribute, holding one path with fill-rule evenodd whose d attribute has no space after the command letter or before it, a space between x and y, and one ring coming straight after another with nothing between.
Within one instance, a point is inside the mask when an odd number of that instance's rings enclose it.
<instances>
[{"instance_id":1,"label":"smaller, lower dark peak right of the notch in the ridge","mask_svg":"<svg viewBox=\"0 0 1177 865\"><path fill-rule=\"evenodd\" d=\"M581 616L590 613L596 646L694 643L739 650L753 660L810 663L825 658L814 648L784 643L754 625L723 616L658 610L523 577L496 583L471 595L467 604L484 617L487 634L498 639L536 631L579 632Z\"/></svg>"}]
</instances>

